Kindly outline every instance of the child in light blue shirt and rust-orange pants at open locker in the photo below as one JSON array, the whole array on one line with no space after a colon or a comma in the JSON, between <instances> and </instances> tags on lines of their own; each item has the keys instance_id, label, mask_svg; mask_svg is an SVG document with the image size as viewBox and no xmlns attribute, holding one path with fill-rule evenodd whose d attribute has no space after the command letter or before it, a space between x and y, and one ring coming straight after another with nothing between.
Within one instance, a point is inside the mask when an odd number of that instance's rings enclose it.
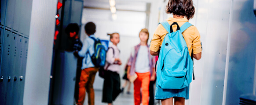
<instances>
[{"instance_id":1,"label":"child in light blue shirt and rust-orange pants at open locker","mask_svg":"<svg viewBox=\"0 0 256 105\"><path fill-rule=\"evenodd\" d=\"M89 36L84 40L82 49L78 52L80 57L84 57L82 64L82 71L79 82L79 96L77 105L84 105L85 91L88 93L88 105L94 105L94 89L93 82L95 74L99 70L91 61L91 55L95 52L94 40L96 26L93 22L88 22L84 26L85 33Z\"/></svg>"}]
</instances>

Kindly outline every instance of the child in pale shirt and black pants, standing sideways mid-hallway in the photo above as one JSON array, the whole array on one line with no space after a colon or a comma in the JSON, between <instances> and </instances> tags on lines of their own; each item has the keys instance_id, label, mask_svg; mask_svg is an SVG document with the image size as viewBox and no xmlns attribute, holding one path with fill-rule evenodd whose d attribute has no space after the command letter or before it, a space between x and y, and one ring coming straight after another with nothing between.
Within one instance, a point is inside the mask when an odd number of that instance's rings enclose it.
<instances>
[{"instance_id":1,"label":"child in pale shirt and black pants, standing sideways mid-hallway","mask_svg":"<svg viewBox=\"0 0 256 105\"><path fill-rule=\"evenodd\" d=\"M110 46L106 53L106 65L104 67L105 78L103 84L102 91L102 102L108 103L108 105L112 105L113 101L117 98L117 96L121 93L120 89L120 76L119 76L119 65L122 64L119 59L120 50L117 48L117 44L119 43L119 34L113 33L110 35L110 41L113 45Z\"/></svg>"}]
</instances>

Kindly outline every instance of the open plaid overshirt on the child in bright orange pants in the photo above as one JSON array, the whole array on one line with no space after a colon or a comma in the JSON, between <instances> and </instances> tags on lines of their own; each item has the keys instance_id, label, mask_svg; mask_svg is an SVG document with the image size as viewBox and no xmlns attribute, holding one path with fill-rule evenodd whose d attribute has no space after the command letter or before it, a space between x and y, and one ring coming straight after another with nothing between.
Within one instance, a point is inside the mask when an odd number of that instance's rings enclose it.
<instances>
[{"instance_id":1,"label":"open plaid overshirt on the child in bright orange pants","mask_svg":"<svg viewBox=\"0 0 256 105\"><path fill-rule=\"evenodd\" d=\"M128 62L128 66L131 66L131 69L130 69L130 75L134 75L135 74L135 63L136 63L136 58L137 58L137 55L138 55L138 52L139 52L139 47L140 47L140 44L139 45L136 45L134 46L134 52L131 53L131 56L129 58L129 62ZM153 68L155 67L155 61L154 61L154 58L151 57L150 55L150 50L149 50L149 46L147 45L148 47L148 57L150 59L149 61L149 66L150 66L150 75L152 75L152 72L153 72Z\"/></svg>"}]
</instances>

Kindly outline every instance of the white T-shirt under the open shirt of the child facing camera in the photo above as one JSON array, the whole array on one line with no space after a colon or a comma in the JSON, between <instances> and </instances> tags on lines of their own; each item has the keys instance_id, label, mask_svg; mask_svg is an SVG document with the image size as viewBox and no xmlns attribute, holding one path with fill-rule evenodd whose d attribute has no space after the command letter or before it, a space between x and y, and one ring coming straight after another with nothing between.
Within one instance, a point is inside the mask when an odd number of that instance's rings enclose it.
<instances>
[{"instance_id":1,"label":"white T-shirt under the open shirt of the child facing camera","mask_svg":"<svg viewBox=\"0 0 256 105\"><path fill-rule=\"evenodd\" d=\"M150 72L149 65L149 49L146 45L140 45L138 55L135 63L135 72L137 73L146 73Z\"/></svg>"}]
</instances>

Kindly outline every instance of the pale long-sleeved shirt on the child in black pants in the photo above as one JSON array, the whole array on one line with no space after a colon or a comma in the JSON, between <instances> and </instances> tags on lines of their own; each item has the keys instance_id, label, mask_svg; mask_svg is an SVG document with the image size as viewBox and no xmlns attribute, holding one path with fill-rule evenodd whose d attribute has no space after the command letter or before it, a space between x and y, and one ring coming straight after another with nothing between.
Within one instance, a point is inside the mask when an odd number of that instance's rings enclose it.
<instances>
[{"instance_id":1,"label":"pale long-sleeved shirt on the child in black pants","mask_svg":"<svg viewBox=\"0 0 256 105\"><path fill-rule=\"evenodd\" d=\"M116 58L119 58L119 49L117 48L116 45L111 45L114 49L114 54L113 54L113 49L109 48L107 53L106 53L106 64L105 64L105 69L106 67L110 64L110 66L107 68L107 70L113 71L113 72L119 72L120 66L118 64L114 64L117 62L114 62Z\"/></svg>"}]
</instances>

